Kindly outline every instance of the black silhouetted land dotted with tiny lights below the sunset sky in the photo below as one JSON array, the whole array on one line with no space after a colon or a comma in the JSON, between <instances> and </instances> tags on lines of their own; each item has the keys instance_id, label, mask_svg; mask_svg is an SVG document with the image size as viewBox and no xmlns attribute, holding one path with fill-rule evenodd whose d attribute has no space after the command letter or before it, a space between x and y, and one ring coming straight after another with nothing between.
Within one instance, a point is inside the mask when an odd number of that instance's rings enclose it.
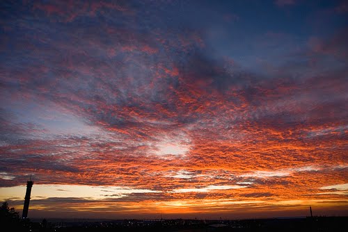
<instances>
[{"instance_id":1,"label":"black silhouetted land dotted with tiny lights below the sunset sky","mask_svg":"<svg viewBox=\"0 0 348 232\"><path fill-rule=\"evenodd\" d=\"M16 231L348 231L348 217L244 220L27 220Z\"/></svg>"}]
</instances>

